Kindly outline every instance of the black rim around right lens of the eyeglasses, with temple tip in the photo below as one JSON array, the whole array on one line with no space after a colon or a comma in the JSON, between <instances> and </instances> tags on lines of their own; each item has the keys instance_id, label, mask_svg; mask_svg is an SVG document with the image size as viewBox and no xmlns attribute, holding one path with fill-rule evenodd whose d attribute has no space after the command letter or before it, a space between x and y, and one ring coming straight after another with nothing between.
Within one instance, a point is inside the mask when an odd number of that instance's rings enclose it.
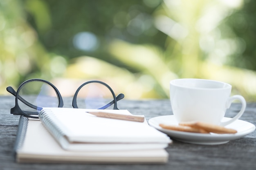
<instances>
[{"instance_id":1,"label":"black rim around right lens of the eyeglasses, with temple tip","mask_svg":"<svg viewBox=\"0 0 256 170\"><path fill-rule=\"evenodd\" d=\"M77 90L76 90L76 92L75 92L75 94L74 94L73 100L72 100L72 106L73 106L73 108L78 108L78 106L77 106L77 101L76 101L77 95L78 95L79 91L81 90L81 88L82 88L83 86L85 86L86 84L89 84L89 83L99 83L99 84L102 84L102 85L106 86L106 87L110 90L110 92L111 92L111 94L112 94L112 96L113 96L113 100L112 100L111 102L109 102L109 103L106 104L105 106L102 106L101 108L98 108L98 109L105 109L105 108L108 108L110 105L114 104L114 108L113 108L113 109L114 109L114 110L119 110L119 109L117 108L117 97L118 97L118 99L122 99L122 98L124 98L124 94L121 93L121 94L119 94L119 95L116 97L114 91L112 90L112 88L111 88L110 86L108 86L108 84L106 84L106 83L104 83L104 82L101 82L101 81L97 81L97 80L85 82L85 83L83 83L81 86L79 86L79 88L77 88Z\"/></svg>"}]
</instances>

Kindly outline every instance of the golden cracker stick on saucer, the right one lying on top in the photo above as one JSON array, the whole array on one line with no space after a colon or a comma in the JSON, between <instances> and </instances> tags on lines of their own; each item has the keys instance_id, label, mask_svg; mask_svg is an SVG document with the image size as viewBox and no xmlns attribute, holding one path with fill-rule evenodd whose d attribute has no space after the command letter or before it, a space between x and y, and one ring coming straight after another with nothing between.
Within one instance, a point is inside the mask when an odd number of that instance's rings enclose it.
<instances>
[{"instance_id":1,"label":"golden cracker stick on saucer, the right one lying on top","mask_svg":"<svg viewBox=\"0 0 256 170\"><path fill-rule=\"evenodd\" d=\"M227 134L227 133L236 133L237 131L230 128L225 128L223 126L204 123L204 122L180 122L182 126L190 126L193 128L202 128L208 132L218 133L218 134Z\"/></svg>"}]
</instances>

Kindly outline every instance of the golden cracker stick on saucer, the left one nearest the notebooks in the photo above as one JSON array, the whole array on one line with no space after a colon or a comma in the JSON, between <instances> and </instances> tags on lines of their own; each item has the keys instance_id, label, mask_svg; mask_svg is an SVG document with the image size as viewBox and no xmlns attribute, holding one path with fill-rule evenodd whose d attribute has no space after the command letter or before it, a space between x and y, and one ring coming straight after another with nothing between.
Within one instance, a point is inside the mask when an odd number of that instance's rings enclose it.
<instances>
[{"instance_id":1,"label":"golden cracker stick on saucer, the left one nearest the notebooks","mask_svg":"<svg viewBox=\"0 0 256 170\"><path fill-rule=\"evenodd\" d=\"M166 124L159 124L160 127L168 130L177 130L182 132L194 132L194 133L209 133L204 129L201 128L193 128L190 126L177 126L177 125L166 125Z\"/></svg>"}]
</instances>

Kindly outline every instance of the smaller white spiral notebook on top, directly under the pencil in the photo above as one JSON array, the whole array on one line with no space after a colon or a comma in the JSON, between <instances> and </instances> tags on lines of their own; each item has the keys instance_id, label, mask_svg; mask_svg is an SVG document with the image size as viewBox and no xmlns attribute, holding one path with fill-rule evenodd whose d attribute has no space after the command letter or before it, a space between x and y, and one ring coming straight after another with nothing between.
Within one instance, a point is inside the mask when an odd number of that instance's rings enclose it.
<instances>
[{"instance_id":1,"label":"smaller white spiral notebook on top, directly under the pencil","mask_svg":"<svg viewBox=\"0 0 256 170\"><path fill-rule=\"evenodd\" d=\"M146 120L108 119L86 111L90 110L44 108L39 118L65 150L145 150L166 148L171 143L166 134L149 126ZM128 110L114 111L130 114Z\"/></svg>"}]
</instances>

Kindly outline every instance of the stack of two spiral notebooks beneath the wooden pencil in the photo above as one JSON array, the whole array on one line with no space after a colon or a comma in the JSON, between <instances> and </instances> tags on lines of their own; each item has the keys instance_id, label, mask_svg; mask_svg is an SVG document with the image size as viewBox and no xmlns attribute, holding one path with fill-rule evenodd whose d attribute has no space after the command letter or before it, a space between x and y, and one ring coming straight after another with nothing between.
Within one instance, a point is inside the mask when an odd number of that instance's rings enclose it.
<instances>
[{"instance_id":1,"label":"stack of two spiral notebooks beneath the wooden pencil","mask_svg":"<svg viewBox=\"0 0 256 170\"><path fill-rule=\"evenodd\" d=\"M38 119L21 116L18 162L165 163L172 141L144 122L98 117L76 108L43 108ZM131 115L128 110L104 110Z\"/></svg>"}]
</instances>

